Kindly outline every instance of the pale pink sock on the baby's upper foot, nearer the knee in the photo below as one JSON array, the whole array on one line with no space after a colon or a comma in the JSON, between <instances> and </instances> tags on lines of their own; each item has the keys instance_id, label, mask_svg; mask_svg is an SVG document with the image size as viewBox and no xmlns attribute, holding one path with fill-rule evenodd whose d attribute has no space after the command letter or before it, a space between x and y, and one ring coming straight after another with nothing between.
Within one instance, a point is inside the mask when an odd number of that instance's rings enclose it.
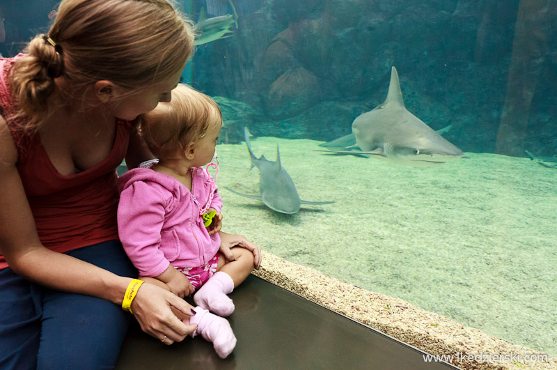
<instances>
[{"instance_id":1,"label":"pale pink sock on the baby's upper foot, nearer the knee","mask_svg":"<svg viewBox=\"0 0 557 370\"><path fill-rule=\"evenodd\" d=\"M199 288L194 295L194 302L219 316L230 316L234 312L234 302L227 294L232 293L233 289L232 277L226 272L219 271Z\"/></svg>"}]
</instances>

